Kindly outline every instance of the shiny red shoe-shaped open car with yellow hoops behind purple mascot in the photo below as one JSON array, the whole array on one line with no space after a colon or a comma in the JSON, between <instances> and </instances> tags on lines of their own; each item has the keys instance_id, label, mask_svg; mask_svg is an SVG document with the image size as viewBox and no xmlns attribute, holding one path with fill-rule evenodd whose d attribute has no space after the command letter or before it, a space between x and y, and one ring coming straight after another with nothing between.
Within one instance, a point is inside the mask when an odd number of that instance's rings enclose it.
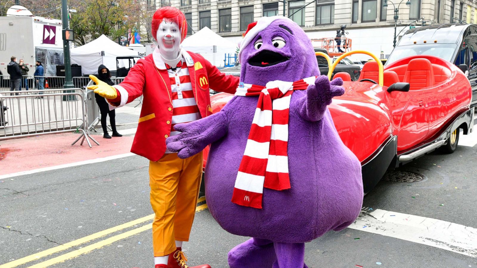
<instances>
[{"instance_id":1,"label":"shiny red shoe-shaped open car with yellow hoops behind purple mascot","mask_svg":"<svg viewBox=\"0 0 477 268\"><path fill-rule=\"evenodd\" d=\"M368 52L347 52L341 57L354 53L376 59ZM343 143L361 161L365 193L389 168L438 147L452 153L459 129L464 134L472 131L470 83L457 66L441 58L412 56L386 69L376 59L364 64L357 82L352 82L348 73L339 72L333 79L336 77L342 77L345 93L334 97L328 108ZM218 112L232 97L227 93L212 96L213 111ZM207 153L208 148L206 161Z\"/></svg>"}]
</instances>

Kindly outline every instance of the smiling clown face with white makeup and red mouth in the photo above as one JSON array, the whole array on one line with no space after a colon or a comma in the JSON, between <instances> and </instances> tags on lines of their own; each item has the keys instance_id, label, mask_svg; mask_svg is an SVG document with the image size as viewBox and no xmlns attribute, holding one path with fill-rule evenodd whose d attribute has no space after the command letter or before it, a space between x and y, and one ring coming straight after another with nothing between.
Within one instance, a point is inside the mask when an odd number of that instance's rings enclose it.
<instances>
[{"instance_id":1,"label":"smiling clown face with white makeup and red mouth","mask_svg":"<svg viewBox=\"0 0 477 268\"><path fill-rule=\"evenodd\" d=\"M181 32L176 22L162 21L157 28L156 39L159 52L164 59L174 60L179 56Z\"/></svg>"}]
</instances>

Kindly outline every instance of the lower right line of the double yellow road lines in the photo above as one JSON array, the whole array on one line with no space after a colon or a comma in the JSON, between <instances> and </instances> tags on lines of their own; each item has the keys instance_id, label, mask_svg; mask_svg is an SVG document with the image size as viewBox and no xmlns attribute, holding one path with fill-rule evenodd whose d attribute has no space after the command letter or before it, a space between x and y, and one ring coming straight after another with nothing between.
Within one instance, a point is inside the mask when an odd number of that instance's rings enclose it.
<instances>
[{"instance_id":1,"label":"lower right line of the double yellow road lines","mask_svg":"<svg viewBox=\"0 0 477 268\"><path fill-rule=\"evenodd\" d=\"M78 257L82 254L85 254L85 253L88 253L90 251L93 251L94 249L97 249L97 248L100 248L100 247L104 247L104 246L107 246L107 245L110 245L118 240L121 240L121 239L124 239L126 237L130 237L130 236L133 236L135 234L139 234L140 232L144 232L146 230L149 230L152 228L152 224L146 224L145 226L142 226L142 227L139 227L139 228L136 228L136 229L133 229L133 230L130 230L130 231L127 231L125 233L122 233L122 234L119 234L119 235L116 235L114 237L109 237L107 239L104 239L102 241L99 241L99 242L96 242L94 244L91 244L89 246L86 246L86 247L83 247L83 248L80 248L80 249L77 249L77 250L74 250L72 252L68 252L68 253L65 253L61 256L58 256L56 258L52 258L52 259L49 259L49 260L45 260L41 263L38 263L38 264L35 264L33 266L30 266L29 268L43 268L43 267L49 267L53 264L57 264L59 262L63 262L65 260L68 260L68 259L71 259L71 258L75 258L75 257Z\"/></svg>"}]
</instances>

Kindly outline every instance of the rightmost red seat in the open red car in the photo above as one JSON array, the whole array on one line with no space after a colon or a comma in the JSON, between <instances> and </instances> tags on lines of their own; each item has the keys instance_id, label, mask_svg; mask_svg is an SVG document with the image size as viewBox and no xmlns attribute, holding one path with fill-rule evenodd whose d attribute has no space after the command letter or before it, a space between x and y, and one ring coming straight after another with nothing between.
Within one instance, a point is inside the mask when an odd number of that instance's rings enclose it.
<instances>
[{"instance_id":1,"label":"rightmost red seat in the open red car","mask_svg":"<svg viewBox=\"0 0 477 268\"><path fill-rule=\"evenodd\" d=\"M407 64L404 81L409 90L418 90L435 84L432 64L427 59L413 59Z\"/></svg>"}]
</instances>

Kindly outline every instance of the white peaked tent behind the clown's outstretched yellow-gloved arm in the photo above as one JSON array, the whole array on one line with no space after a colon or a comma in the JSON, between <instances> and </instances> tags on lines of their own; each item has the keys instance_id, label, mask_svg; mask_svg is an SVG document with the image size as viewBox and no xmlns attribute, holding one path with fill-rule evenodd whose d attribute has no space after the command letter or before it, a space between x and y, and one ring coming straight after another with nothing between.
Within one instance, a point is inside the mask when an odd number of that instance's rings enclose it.
<instances>
[{"instance_id":1,"label":"white peaked tent behind the clown's outstretched yellow-gloved arm","mask_svg":"<svg viewBox=\"0 0 477 268\"><path fill-rule=\"evenodd\" d=\"M73 48L71 63L81 65L81 72L84 74L96 74L101 64L108 67L110 71L115 71L116 57L137 55L137 51L123 47L103 34L81 47ZM124 64L119 67L124 67Z\"/></svg>"}]
</instances>

